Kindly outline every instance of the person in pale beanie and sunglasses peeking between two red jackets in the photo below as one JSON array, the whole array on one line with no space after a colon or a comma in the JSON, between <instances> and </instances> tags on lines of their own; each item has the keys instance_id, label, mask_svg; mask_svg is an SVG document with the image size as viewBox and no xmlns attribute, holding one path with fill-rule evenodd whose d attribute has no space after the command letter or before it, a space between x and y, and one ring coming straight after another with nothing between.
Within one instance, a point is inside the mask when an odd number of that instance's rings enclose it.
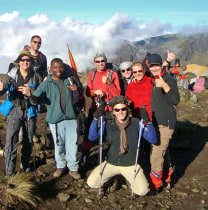
<instances>
[{"instance_id":1,"label":"person in pale beanie and sunglasses peeking between two red jackets","mask_svg":"<svg viewBox=\"0 0 208 210\"><path fill-rule=\"evenodd\" d=\"M121 80L120 80L120 87L121 87L121 95L125 95L126 93L126 88L128 84L131 82L133 79L133 74L132 74L132 62L130 61L125 61L122 62L119 65L119 69L121 72Z\"/></svg>"}]
</instances>

